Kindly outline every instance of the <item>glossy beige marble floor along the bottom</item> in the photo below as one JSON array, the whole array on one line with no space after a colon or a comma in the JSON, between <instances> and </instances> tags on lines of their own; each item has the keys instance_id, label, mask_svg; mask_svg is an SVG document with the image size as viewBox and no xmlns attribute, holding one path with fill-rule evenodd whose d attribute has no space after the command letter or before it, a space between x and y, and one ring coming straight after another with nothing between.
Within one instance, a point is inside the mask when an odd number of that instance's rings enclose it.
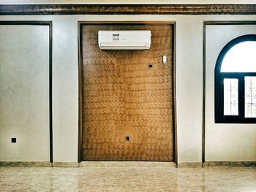
<instances>
[{"instance_id":1,"label":"glossy beige marble floor along the bottom","mask_svg":"<svg viewBox=\"0 0 256 192\"><path fill-rule=\"evenodd\" d=\"M256 191L256 167L0 167L0 191Z\"/></svg>"}]
</instances>

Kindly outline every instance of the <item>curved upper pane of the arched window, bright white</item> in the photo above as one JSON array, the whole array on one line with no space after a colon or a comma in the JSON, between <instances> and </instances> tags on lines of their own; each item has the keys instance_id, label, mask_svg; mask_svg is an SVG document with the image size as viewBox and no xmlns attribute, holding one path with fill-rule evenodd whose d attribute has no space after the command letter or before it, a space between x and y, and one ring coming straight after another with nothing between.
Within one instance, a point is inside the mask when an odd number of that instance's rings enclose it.
<instances>
[{"instance_id":1,"label":"curved upper pane of the arched window, bright white","mask_svg":"<svg viewBox=\"0 0 256 192\"><path fill-rule=\"evenodd\" d=\"M255 41L234 45L223 58L220 72L256 72L255 50Z\"/></svg>"}]
</instances>

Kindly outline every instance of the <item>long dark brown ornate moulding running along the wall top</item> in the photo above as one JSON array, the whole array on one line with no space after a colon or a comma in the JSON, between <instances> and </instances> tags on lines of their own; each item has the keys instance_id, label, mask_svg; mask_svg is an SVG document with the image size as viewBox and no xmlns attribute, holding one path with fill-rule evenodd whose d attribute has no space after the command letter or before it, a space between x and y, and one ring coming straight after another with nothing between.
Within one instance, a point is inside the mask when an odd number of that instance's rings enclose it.
<instances>
[{"instance_id":1,"label":"long dark brown ornate moulding running along the wall top","mask_svg":"<svg viewBox=\"0 0 256 192\"><path fill-rule=\"evenodd\" d=\"M256 4L1 4L0 15L255 15Z\"/></svg>"}]
</instances>

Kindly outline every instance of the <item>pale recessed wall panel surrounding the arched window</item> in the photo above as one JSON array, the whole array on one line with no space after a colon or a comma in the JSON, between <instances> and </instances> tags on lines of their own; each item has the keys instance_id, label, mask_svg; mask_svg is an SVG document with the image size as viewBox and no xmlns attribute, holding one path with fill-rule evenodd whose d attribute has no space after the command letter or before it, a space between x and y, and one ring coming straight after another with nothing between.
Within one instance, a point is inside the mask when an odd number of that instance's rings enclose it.
<instances>
[{"instance_id":1,"label":"pale recessed wall panel surrounding the arched window","mask_svg":"<svg viewBox=\"0 0 256 192\"><path fill-rule=\"evenodd\" d=\"M206 161L255 161L256 125L214 123L214 67L232 39L256 34L252 26L206 26Z\"/></svg>"}]
</instances>

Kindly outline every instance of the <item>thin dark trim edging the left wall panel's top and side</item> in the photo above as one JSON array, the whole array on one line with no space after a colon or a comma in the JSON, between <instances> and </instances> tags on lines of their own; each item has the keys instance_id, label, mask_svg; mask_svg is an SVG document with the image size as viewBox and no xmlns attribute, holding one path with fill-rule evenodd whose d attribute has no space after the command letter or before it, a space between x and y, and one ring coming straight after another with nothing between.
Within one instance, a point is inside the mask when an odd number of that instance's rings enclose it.
<instances>
[{"instance_id":1,"label":"thin dark trim edging the left wall panel's top and side","mask_svg":"<svg viewBox=\"0 0 256 192\"><path fill-rule=\"evenodd\" d=\"M1 5L0 5L1 12ZM1 14L0 14L1 15ZM42 20L1 20L0 25L29 25L49 26L49 135L50 135L50 162L53 162L53 82L52 82L52 61L53 61L53 23Z\"/></svg>"}]
</instances>

